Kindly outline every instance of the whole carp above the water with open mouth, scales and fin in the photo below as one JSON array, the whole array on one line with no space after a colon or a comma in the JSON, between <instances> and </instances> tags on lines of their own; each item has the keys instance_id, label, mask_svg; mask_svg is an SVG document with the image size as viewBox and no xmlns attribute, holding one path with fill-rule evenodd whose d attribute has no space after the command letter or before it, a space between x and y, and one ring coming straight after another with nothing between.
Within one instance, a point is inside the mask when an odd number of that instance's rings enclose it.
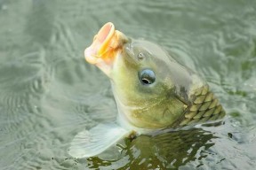
<instances>
[{"instance_id":1,"label":"whole carp above the water with open mouth, scales and fin","mask_svg":"<svg viewBox=\"0 0 256 170\"><path fill-rule=\"evenodd\" d=\"M153 42L134 40L105 24L84 50L87 62L111 81L118 108L116 123L75 136L69 154L91 157L120 138L163 128L220 120L225 112L209 86Z\"/></svg>"}]
</instances>

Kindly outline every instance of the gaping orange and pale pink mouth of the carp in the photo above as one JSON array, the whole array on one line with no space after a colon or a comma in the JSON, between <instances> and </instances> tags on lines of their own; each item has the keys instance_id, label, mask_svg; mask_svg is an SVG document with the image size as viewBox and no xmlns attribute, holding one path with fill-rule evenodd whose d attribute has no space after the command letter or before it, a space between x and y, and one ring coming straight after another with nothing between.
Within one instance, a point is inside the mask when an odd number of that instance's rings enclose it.
<instances>
[{"instance_id":1,"label":"gaping orange and pale pink mouth of the carp","mask_svg":"<svg viewBox=\"0 0 256 170\"><path fill-rule=\"evenodd\" d=\"M94 36L92 45L84 50L85 60L98 66L109 77L116 56L122 51L125 42L128 42L128 38L116 30L113 23L108 22Z\"/></svg>"}]
</instances>

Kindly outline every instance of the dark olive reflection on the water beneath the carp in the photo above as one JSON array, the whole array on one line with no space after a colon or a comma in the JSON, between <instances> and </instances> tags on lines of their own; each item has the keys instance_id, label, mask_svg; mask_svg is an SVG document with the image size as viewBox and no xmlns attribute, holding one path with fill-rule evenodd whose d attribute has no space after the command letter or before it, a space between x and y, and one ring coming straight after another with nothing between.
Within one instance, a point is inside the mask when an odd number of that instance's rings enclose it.
<instances>
[{"instance_id":1,"label":"dark olive reflection on the water beneath the carp","mask_svg":"<svg viewBox=\"0 0 256 170\"><path fill-rule=\"evenodd\" d=\"M202 128L171 131L155 136L140 135L132 140L125 138L123 144L117 144L121 149L122 158L105 160L99 157L88 158L90 168L104 166L114 169L165 169L185 166L189 161L207 157L208 151L217 138L211 132ZM125 160L123 160L125 159ZM122 162L128 164L120 167ZM118 165L118 167L117 167ZM200 166L200 165L198 165Z\"/></svg>"}]
</instances>

